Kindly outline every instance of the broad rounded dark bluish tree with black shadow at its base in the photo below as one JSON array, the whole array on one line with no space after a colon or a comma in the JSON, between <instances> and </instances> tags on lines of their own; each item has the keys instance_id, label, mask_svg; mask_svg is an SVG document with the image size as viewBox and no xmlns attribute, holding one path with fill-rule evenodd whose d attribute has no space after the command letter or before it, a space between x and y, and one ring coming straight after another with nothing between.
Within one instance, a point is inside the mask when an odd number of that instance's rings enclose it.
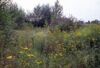
<instances>
[{"instance_id":1,"label":"broad rounded dark bluish tree with black shadow at its base","mask_svg":"<svg viewBox=\"0 0 100 68\"><path fill-rule=\"evenodd\" d=\"M30 13L26 18L34 26L43 27L51 22L51 8L49 5L38 5L34 8L33 13Z\"/></svg>"}]
</instances>

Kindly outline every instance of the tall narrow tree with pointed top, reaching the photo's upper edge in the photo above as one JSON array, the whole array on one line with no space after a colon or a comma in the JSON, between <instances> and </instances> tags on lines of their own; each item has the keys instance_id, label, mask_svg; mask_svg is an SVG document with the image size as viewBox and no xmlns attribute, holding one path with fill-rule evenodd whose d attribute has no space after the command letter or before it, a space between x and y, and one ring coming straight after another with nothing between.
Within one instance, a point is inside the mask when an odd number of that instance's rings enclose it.
<instances>
[{"instance_id":1,"label":"tall narrow tree with pointed top, reaching the photo's upper edge","mask_svg":"<svg viewBox=\"0 0 100 68\"><path fill-rule=\"evenodd\" d=\"M59 4L59 1L57 0L55 2L55 5L52 7L52 13L51 13L51 25L55 26L59 24L59 20L62 17L62 10L63 7Z\"/></svg>"}]
</instances>

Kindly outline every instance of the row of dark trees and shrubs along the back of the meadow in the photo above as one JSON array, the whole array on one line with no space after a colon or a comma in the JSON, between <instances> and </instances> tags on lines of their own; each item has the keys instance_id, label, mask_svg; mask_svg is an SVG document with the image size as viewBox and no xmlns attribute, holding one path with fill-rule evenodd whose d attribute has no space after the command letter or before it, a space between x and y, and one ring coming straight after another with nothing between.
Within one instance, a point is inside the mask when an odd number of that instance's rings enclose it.
<instances>
[{"instance_id":1,"label":"row of dark trees and shrubs along the back of the meadow","mask_svg":"<svg viewBox=\"0 0 100 68\"><path fill-rule=\"evenodd\" d=\"M98 24L100 22L99 20L84 22L77 20L77 18L73 16L65 17L63 15L63 7L58 0L54 6L49 6L49 4L38 5L34 8L33 12L27 14L23 9L18 8L17 4L11 3L11 1L8 3L8 0L1 0L0 2L0 10L2 10L0 11L0 29L3 29L4 23L2 18L5 14L8 14L7 17L13 21L14 29L22 29L30 24L34 27L49 26L52 28L57 27L61 31L70 31L85 24Z\"/></svg>"}]
</instances>

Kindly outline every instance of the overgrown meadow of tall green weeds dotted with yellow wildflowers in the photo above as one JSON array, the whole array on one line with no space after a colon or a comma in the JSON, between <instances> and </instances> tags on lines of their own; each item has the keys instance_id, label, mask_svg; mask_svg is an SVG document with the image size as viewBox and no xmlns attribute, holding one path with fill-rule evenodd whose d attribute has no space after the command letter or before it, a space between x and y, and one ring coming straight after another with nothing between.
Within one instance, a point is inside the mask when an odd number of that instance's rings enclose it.
<instances>
[{"instance_id":1,"label":"overgrown meadow of tall green weeds dotted with yellow wildflowers","mask_svg":"<svg viewBox=\"0 0 100 68\"><path fill-rule=\"evenodd\" d=\"M16 54L6 59L14 60L16 68L100 67L100 25L86 25L70 33L34 28L17 30L14 35Z\"/></svg>"}]
</instances>

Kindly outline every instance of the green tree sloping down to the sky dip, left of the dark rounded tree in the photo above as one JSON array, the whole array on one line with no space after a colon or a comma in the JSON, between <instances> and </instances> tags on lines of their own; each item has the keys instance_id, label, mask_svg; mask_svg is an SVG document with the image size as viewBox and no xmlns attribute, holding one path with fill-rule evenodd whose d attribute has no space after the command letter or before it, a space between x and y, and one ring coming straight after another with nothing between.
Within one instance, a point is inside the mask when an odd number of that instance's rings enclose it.
<instances>
[{"instance_id":1,"label":"green tree sloping down to the sky dip, left of the dark rounded tree","mask_svg":"<svg viewBox=\"0 0 100 68\"><path fill-rule=\"evenodd\" d=\"M25 20L25 12L22 9L19 9L16 4L10 4L8 11L15 22L15 28L22 28Z\"/></svg>"}]
</instances>

